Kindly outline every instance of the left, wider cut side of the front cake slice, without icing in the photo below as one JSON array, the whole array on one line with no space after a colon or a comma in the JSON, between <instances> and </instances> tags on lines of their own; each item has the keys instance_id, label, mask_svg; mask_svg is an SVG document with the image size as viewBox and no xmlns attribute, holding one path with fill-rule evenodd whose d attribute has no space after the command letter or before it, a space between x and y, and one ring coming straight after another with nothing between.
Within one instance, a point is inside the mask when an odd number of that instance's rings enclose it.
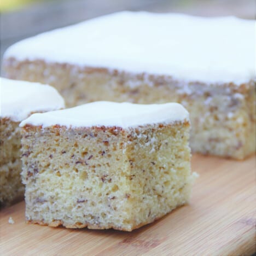
<instances>
[{"instance_id":1,"label":"left, wider cut side of the front cake slice, without icing","mask_svg":"<svg viewBox=\"0 0 256 256\"><path fill-rule=\"evenodd\" d=\"M116 127L25 129L22 177L27 222L131 230L125 131Z\"/></svg>"}]
</instances>

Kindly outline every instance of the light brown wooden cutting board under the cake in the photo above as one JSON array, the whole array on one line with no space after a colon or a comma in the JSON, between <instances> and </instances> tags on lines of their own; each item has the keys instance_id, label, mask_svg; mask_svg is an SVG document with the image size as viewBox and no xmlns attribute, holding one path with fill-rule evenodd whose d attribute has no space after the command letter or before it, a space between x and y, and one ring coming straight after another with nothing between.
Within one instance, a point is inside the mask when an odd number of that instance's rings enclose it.
<instances>
[{"instance_id":1,"label":"light brown wooden cutting board under the cake","mask_svg":"<svg viewBox=\"0 0 256 256\"><path fill-rule=\"evenodd\" d=\"M25 203L1 211L1 255L238 255L255 249L256 158L193 155L190 205L132 232L49 228L24 221ZM9 224L9 217L14 224Z\"/></svg>"}]
</instances>

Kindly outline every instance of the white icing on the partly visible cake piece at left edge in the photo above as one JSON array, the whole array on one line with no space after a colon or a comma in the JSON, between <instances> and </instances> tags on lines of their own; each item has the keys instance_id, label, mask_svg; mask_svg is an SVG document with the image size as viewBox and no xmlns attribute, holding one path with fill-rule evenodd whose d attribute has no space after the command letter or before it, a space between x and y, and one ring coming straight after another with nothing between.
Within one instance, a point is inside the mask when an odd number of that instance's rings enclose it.
<instances>
[{"instance_id":1,"label":"white icing on the partly visible cake piece at left edge","mask_svg":"<svg viewBox=\"0 0 256 256\"><path fill-rule=\"evenodd\" d=\"M21 121L31 112L65 107L60 94L50 85L0 78L0 117Z\"/></svg>"}]
</instances>

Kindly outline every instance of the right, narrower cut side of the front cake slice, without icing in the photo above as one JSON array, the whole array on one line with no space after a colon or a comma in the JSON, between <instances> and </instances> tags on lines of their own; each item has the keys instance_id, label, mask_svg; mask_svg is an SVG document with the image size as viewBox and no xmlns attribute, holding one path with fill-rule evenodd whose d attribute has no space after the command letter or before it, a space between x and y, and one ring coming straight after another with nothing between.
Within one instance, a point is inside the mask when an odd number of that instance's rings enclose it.
<instances>
[{"instance_id":1,"label":"right, narrower cut side of the front cake slice, without icing","mask_svg":"<svg viewBox=\"0 0 256 256\"><path fill-rule=\"evenodd\" d=\"M188 121L133 129L126 154L131 167L133 226L154 222L189 202L194 175L190 167Z\"/></svg>"}]
</instances>

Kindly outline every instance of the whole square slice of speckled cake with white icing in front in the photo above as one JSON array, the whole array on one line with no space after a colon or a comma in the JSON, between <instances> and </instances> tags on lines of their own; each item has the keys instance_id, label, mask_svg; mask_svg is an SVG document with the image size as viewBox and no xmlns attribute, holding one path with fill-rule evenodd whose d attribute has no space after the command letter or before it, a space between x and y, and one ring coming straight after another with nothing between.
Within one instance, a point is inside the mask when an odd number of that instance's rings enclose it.
<instances>
[{"instance_id":1,"label":"whole square slice of speckled cake with white icing in front","mask_svg":"<svg viewBox=\"0 0 256 256\"><path fill-rule=\"evenodd\" d=\"M187 203L189 114L94 102L22 121L26 220L131 231Z\"/></svg>"}]
</instances>

